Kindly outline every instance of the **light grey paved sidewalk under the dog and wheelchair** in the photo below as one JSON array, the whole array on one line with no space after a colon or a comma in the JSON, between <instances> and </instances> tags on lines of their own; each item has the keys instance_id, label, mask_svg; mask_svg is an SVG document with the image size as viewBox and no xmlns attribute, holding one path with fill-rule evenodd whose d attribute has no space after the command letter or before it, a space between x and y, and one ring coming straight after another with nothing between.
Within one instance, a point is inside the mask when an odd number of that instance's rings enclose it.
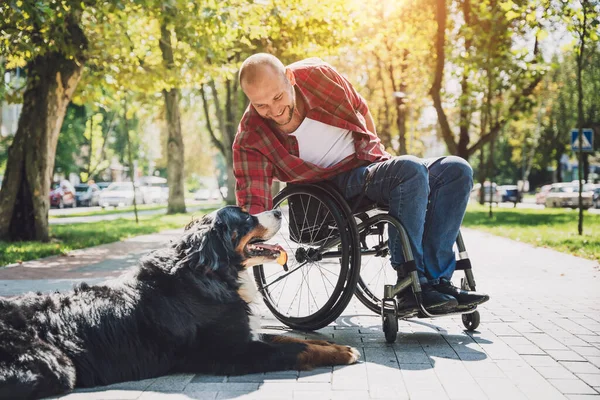
<instances>
[{"instance_id":1,"label":"light grey paved sidewalk under the dog and wheelchair","mask_svg":"<svg viewBox=\"0 0 600 400\"><path fill-rule=\"evenodd\" d=\"M100 282L179 232L0 269L0 295ZM60 398L600 400L598 263L473 230L463 236L478 288L492 296L480 308L478 332L465 333L460 317L415 319L400 322L398 340L388 345L380 319L353 300L335 324L309 336L359 348L356 365L230 378L171 375ZM286 332L266 308L261 312L263 327Z\"/></svg>"}]
</instances>

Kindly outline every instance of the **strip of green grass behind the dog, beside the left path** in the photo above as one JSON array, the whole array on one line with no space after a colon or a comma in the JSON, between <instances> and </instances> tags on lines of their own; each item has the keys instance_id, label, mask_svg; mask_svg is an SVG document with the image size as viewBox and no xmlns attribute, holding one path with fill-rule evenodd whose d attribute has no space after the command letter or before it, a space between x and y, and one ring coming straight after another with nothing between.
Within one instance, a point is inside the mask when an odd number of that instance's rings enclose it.
<instances>
[{"instance_id":1,"label":"strip of green grass behind the dog, beside the left path","mask_svg":"<svg viewBox=\"0 0 600 400\"><path fill-rule=\"evenodd\" d=\"M191 221L192 216L200 216L211 210L206 208L188 214L141 216L139 224L135 223L135 218L120 218L85 224L51 225L52 239L48 243L0 242L0 267L56 254L66 254L71 250L112 243L132 236L182 228Z\"/></svg>"}]
</instances>

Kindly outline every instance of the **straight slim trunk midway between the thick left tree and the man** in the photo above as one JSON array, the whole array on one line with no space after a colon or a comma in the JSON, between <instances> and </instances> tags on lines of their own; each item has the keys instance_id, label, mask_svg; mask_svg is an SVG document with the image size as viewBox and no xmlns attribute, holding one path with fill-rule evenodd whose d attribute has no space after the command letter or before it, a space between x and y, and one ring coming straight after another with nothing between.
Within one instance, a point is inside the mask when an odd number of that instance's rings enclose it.
<instances>
[{"instance_id":1,"label":"straight slim trunk midway between the thick left tree and the man","mask_svg":"<svg viewBox=\"0 0 600 400\"><path fill-rule=\"evenodd\" d=\"M171 31L163 21L160 27L160 50L163 62L168 69L173 68L173 47ZM185 196L183 188L184 147L181 135L181 116L179 114L179 89L163 89L165 110L167 115L167 180L169 182L169 202L167 214L185 212Z\"/></svg>"}]
</instances>

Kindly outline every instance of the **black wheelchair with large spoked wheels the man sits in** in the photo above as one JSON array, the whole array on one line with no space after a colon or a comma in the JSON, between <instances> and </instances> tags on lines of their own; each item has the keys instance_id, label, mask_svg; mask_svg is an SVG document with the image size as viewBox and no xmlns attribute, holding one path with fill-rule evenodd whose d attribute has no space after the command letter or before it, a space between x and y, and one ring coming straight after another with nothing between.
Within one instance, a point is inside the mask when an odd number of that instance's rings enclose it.
<instances>
[{"instance_id":1,"label":"black wheelchair with large spoked wheels the man sits in","mask_svg":"<svg viewBox=\"0 0 600 400\"><path fill-rule=\"evenodd\" d=\"M364 197L346 201L329 182L287 185L273 199L283 224L272 239L288 253L285 269L270 263L254 266L254 279L266 306L282 323L298 330L317 330L335 321L353 295L381 315L386 341L393 343L398 320L461 314L465 328L479 326L477 306L444 314L428 312L421 301L416 264L402 224ZM351 209L352 206L352 209ZM388 229L399 233L406 278L397 282L389 258ZM465 277L461 288L475 290L471 262L462 236L456 240L456 270ZM399 310L396 295L412 290L418 309Z\"/></svg>"}]
</instances>

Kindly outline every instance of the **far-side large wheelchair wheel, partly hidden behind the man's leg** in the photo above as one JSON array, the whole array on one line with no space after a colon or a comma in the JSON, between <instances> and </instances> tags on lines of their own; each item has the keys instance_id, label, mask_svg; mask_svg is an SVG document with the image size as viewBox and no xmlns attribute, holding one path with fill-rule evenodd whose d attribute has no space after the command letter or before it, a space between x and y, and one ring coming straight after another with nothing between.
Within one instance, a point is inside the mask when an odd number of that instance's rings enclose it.
<instances>
[{"instance_id":1,"label":"far-side large wheelchair wheel, partly hidden behind the man's leg","mask_svg":"<svg viewBox=\"0 0 600 400\"><path fill-rule=\"evenodd\" d=\"M361 268L355 295L361 303L376 314L381 314L381 296L384 285L394 285L398 275L390 263L388 248L388 229L391 217L381 215L381 219L373 221L362 229ZM360 221L362 222L362 221ZM386 304L386 311L394 312L391 305Z\"/></svg>"}]
</instances>

